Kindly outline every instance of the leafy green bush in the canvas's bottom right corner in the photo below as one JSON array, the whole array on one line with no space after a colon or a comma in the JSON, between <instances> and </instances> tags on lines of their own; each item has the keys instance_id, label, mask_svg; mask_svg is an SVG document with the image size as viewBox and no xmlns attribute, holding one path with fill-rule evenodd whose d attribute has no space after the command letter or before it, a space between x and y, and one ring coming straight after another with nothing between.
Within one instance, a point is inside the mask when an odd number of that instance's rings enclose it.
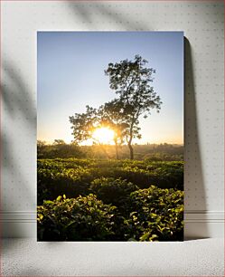
<instances>
[{"instance_id":1,"label":"leafy green bush in the canvas's bottom right corner","mask_svg":"<svg viewBox=\"0 0 225 277\"><path fill-rule=\"evenodd\" d=\"M127 212L128 240L183 240L182 191L156 186L139 189L131 193Z\"/></svg>"}]
</instances>

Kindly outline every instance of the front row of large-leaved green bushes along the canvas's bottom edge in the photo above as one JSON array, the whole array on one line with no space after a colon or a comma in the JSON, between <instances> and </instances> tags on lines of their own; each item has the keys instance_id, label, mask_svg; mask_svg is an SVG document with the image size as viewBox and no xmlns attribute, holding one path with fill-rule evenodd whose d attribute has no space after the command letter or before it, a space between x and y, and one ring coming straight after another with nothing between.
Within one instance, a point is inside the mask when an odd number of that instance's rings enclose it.
<instances>
[{"instance_id":1,"label":"front row of large-leaved green bushes along the canvas's bottom edge","mask_svg":"<svg viewBox=\"0 0 225 277\"><path fill-rule=\"evenodd\" d=\"M151 186L131 192L125 199L117 206L92 194L44 201L37 210L38 240L183 240L182 191Z\"/></svg>"}]
</instances>

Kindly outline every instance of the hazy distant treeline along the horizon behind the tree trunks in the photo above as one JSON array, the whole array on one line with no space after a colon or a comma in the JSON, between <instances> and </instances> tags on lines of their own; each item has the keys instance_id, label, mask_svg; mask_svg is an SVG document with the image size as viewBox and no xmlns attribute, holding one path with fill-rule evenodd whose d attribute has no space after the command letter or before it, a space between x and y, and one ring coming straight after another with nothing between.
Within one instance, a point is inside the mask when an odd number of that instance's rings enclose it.
<instances>
[{"instance_id":1,"label":"hazy distant treeline along the horizon behind the tree trunks","mask_svg":"<svg viewBox=\"0 0 225 277\"><path fill-rule=\"evenodd\" d=\"M183 160L183 145L145 144L134 145L135 158L152 161ZM37 142L37 158L116 158L112 145L79 146L56 139L52 144ZM119 158L129 158L127 146L119 147Z\"/></svg>"}]
</instances>

